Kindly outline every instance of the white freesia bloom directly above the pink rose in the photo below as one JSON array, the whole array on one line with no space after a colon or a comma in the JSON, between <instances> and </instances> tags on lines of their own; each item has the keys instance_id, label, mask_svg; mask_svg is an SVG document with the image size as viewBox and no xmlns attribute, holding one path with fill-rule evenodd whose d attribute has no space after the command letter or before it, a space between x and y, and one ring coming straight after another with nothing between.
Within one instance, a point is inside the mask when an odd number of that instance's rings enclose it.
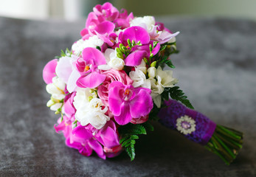
<instances>
[{"instance_id":1,"label":"white freesia bloom directly above the pink rose","mask_svg":"<svg viewBox=\"0 0 256 177\"><path fill-rule=\"evenodd\" d=\"M117 57L117 51L114 50L114 49L106 49L104 56L105 56L105 60L107 62L107 65L100 65L100 66L98 66L98 69L101 69L101 70L109 70L109 69L122 70L123 66L125 66L124 60L122 60L122 58Z\"/></svg>"}]
</instances>

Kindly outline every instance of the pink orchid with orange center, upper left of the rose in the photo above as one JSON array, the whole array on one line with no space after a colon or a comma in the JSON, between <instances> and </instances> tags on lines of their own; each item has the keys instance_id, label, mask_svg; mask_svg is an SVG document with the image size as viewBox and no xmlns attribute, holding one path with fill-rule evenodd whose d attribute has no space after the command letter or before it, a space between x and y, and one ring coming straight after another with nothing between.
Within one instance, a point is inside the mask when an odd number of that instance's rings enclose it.
<instances>
[{"instance_id":1,"label":"pink orchid with orange center, upper left of the rose","mask_svg":"<svg viewBox=\"0 0 256 177\"><path fill-rule=\"evenodd\" d=\"M82 88L95 88L105 80L105 75L100 74L97 66L106 64L105 57L98 49L88 47L83 49L83 59L77 60L77 71L80 72L76 84Z\"/></svg>"}]
</instances>

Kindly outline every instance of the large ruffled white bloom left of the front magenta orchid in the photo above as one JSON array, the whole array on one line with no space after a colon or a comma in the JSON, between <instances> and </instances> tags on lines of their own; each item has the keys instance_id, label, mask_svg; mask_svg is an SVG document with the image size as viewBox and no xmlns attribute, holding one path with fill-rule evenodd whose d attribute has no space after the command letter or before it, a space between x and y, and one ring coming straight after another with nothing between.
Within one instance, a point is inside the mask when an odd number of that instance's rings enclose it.
<instances>
[{"instance_id":1,"label":"large ruffled white bloom left of the front magenta orchid","mask_svg":"<svg viewBox=\"0 0 256 177\"><path fill-rule=\"evenodd\" d=\"M105 115L108 108L103 109L102 101L95 98L90 90L89 88L77 89L74 97L74 106L77 109L75 118L83 126L91 124L94 128L100 129L110 119Z\"/></svg>"}]
</instances>

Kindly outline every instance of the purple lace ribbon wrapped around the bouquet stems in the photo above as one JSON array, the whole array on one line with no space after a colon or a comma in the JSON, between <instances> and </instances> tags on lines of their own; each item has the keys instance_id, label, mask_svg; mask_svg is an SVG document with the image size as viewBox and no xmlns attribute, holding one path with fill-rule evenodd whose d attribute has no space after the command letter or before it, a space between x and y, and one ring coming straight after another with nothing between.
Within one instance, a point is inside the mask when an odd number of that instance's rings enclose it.
<instances>
[{"instance_id":1,"label":"purple lace ribbon wrapped around the bouquet stems","mask_svg":"<svg viewBox=\"0 0 256 177\"><path fill-rule=\"evenodd\" d=\"M201 145L207 145L207 142L209 142L215 131L215 122L212 122L212 120L198 111L185 107L176 100L165 101L165 105L167 105L167 107L162 108L159 111L159 122L161 122L162 125L177 131L181 131L182 128L184 131L187 131L187 129L194 127L194 129L191 129L192 132L190 133L185 134L183 132L184 136L193 142L197 142ZM184 117L187 117L190 121L184 120ZM181 123L181 126L179 125L179 127L177 127L177 122L178 124Z\"/></svg>"}]
</instances>

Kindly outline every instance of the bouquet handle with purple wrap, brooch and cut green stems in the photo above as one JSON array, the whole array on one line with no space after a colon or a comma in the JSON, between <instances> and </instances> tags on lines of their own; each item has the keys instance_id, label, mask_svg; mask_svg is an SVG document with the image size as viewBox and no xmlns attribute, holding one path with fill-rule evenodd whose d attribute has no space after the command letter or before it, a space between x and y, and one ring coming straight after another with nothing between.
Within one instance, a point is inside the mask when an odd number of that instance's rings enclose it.
<instances>
[{"instance_id":1,"label":"bouquet handle with purple wrap, brooch and cut green stems","mask_svg":"<svg viewBox=\"0 0 256 177\"><path fill-rule=\"evenodd\" d=\"M242 148L242 132L216 125L204 114L187 108L176 100L165 101L165 106L159 111L159 122L184 134L187 139L204 145L226 164L233 162Z\"/></svg>"}]
</instances>

